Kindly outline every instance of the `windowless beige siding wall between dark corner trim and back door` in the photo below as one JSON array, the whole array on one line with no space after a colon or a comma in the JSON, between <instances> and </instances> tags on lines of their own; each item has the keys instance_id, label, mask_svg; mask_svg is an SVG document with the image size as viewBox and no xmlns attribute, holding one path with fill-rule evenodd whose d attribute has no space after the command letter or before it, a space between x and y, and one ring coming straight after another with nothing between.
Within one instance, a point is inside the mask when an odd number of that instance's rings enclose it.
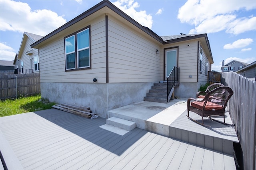
<instances>
[{"instance_id":1,"label":"windowless beige siding wall between dark corner trim and back door","mask_svg":"<svg viewBox=\"0 0 256 170\"><path fill-rule=\"evenodd\" d=\"M150 39L108 17L109 82L157 82L163 79L160 49Z\"/></svg>"}]
</instances>

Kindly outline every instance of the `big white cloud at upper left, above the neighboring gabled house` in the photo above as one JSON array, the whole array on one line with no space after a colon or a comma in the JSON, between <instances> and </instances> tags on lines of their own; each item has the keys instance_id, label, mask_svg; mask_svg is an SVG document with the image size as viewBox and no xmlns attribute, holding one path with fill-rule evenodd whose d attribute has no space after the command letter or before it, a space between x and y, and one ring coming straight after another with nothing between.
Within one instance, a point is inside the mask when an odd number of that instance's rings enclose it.
<instances>
[{"instance_id":1,"label":"big white cloud at upper left, above the neighboring gabled house","mask_svg":"<svg viewBox=\"0 0 256 170\"><path fill-rule=\"evenodd\" d=\"M1 31L26 31L44 36L66 23L62 16L51 10L32 11L30 6L23 2L1 0L0 6Z\"/></svg>"}]
</instances>

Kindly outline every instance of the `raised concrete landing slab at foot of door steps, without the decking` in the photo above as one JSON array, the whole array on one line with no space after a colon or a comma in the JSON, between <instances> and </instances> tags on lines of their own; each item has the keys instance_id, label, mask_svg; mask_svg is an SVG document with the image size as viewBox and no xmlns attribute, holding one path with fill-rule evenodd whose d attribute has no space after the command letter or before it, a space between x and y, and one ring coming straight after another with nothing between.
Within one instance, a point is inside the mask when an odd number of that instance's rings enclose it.
<instances>
[{"instance_id":1,"label":"raised concrete landing slab at foot of door steps, without the decking","mask_svg":"<svg viewBox=\"0 0 256 170\"><path fill-rule=\"evenodd\" d=\"M138 102L108 111L108 117L118 117L136 123L136 127L169 136L169 125L186 110L185 99L169 103Z\"/></svg>"}]
</instances>

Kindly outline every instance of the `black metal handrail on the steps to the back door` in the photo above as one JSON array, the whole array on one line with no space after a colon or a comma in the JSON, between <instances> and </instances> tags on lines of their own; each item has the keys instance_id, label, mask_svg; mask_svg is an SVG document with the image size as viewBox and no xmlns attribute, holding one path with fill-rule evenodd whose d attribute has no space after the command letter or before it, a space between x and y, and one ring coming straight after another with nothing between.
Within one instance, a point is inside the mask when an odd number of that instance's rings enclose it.
<instances>
[{"instance_id":1,"label":"black metal handrail on the steps to the back door","mask_svg":"<svg viewBox=\"0 0 256 170\"><path fill-rule=\"evenodd\" d=\"M180 85L180 68L174 66L169 76L167 77L167 102L168 96L170 95L170 92L176 83Z\"/></svg>"}]
</instances>

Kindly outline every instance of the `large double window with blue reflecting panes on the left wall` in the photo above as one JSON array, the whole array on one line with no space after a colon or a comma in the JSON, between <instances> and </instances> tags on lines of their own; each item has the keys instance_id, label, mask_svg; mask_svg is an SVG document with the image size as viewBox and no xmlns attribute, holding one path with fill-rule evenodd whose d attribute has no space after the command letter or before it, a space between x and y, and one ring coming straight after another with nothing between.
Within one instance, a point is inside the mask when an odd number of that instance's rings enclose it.
<instances>
[{"instance_id":1,"label":"large double window with blue reflecting panes on the left wall","mask_svg":"<svg viewBox=\"0 0 256 170\"><path fill-rule=\"evenodd\" d=\"M66 70L91 68L90 28L65 38Z\"/></svg>"}]
</instances>

